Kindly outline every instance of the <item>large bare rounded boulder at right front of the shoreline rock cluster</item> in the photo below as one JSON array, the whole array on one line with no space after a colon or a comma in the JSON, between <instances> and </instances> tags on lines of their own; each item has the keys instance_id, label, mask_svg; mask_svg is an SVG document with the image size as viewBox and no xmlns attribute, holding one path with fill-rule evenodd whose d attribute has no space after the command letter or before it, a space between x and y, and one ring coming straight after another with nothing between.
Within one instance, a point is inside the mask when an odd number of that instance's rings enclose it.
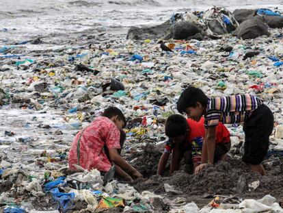
<instances>
[{"instance_id":1,"label":"large bare rounded boulder at right front of the shoreline rock cluster","mask_svg":"<svg viewBox=\"0 0 283 213\"><path fill-rule=\"evenodd\" d=\"M234 34L238 38L249 39L257 38L258 36L269 36L268 25L261 21L259 18L251 18L243 21L236 29Z\"/></svg>"}]
</instances>

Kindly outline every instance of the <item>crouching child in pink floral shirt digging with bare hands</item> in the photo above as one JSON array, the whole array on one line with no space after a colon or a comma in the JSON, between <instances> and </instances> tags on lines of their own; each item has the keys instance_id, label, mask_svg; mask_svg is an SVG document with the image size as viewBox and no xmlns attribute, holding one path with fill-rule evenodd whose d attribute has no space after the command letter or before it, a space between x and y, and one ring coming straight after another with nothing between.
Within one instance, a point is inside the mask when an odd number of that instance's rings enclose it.
<instances>
[{"instance_id":1,"label":"crouching child in pink floral shirt digging with bare hands","mask_svg":"<svg viewBox=\"0 0 283 213\"><path fill-rule=\"evenodd\" d=\"M115 164L116 174L123 179L133 181L133 178L142 177L120 156L124 142L120 138L124 137L122 128L125 125L126 119L121 110L107 108L102 116L95 118L75 136L68 158L70 168L76 170L75 165L79 165L88 171L96 168L106 173Z\"/></svg>"}]
</instances>

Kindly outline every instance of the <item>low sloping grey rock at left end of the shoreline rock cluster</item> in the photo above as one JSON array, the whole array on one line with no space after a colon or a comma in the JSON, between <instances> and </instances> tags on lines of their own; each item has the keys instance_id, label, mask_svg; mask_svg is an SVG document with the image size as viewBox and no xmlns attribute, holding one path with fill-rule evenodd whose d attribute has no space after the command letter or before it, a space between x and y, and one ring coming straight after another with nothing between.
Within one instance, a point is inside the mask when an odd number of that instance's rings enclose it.
<instances>
[{"instance_id":1,"label":"low sloping grey rock at left end of the shoreline rock cluster","mask_svg":"<svg viewBox=\"0 0 283 213\"><path fill-rule=\"evenodd\" d=\"M170 20L154 27L131 27L126 35L126 39L145 40L162 38L170 31Z\"/></svg>"}]
</instances>

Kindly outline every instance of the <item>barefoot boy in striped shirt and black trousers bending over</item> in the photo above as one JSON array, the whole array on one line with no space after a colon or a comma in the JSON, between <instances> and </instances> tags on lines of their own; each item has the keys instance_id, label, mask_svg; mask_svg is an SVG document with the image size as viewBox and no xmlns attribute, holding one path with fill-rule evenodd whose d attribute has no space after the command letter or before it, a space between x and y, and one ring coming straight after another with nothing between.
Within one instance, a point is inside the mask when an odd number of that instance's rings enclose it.
<instances>
[{"instance_id":1,"label":"barefoot boy in striped shirt and black trousers bending over","mask_svg":"<svg viewBox=\"0 0 283 213\"><path fill-rule=\"evenodd\" d=\"M178 112L185 112L188 118L200 121L204 115L205 137L202 146L202 164L213 164L215 155L216 127L222 123L243 123L245 131L245 153L243 161L252 171L265 175L261 162L269 149L269 136L273 130L271 110L254 95L232 95L208 98L199 88L186 88L177 104Z\"/></svg>"}]
</instances>

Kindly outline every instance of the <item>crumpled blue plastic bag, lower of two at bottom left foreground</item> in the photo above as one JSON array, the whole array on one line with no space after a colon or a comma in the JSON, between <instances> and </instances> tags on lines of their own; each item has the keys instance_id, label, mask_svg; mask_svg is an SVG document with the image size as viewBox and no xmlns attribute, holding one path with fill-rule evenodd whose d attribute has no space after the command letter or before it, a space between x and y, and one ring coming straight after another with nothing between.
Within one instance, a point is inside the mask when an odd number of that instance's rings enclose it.
<instances>
[{"instance_id":1,"label":"crumpled blue plastic bag, lower of two at bottom left foreground","mask_svg":"<svg viewBox=\"0 0 283 213\"><path fill-rule=\"evenodd\" d=\"M50 190L50 192L53 196L53 199L59 202L59 208L63 212L67 212L70 208L70 205L74 201L75 193L74 192L71 192L71 193L59 192L58 188L53 188Z\"/></svg>"}]
</instances>

